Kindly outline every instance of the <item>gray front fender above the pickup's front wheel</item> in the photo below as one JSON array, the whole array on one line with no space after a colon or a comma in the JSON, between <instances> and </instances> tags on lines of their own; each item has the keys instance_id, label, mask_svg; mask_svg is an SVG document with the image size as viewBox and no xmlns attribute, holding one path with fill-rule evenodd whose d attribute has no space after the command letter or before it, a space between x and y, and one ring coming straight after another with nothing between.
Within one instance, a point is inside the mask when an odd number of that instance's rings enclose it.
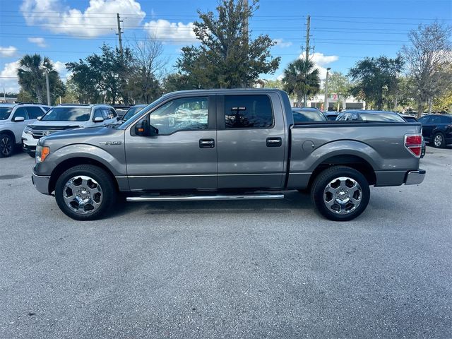
<instances>
[{"instance_id":1,"label":"gray front fender above the pickup's front wheel","mask_svg":"<svg viewBox=\"0 0 452 339\"><path fill-rule=\"evenodd\" d=\"M75 158L88 158L105 165L115 177L126 175L124 145L110 145L107 147L109 147L109 151L95 145L83 143L63 146L51 152L44 162L37 163L35 165L35 173L50 175L53 169L61 162Z\"/></svg>"}]
</instances>

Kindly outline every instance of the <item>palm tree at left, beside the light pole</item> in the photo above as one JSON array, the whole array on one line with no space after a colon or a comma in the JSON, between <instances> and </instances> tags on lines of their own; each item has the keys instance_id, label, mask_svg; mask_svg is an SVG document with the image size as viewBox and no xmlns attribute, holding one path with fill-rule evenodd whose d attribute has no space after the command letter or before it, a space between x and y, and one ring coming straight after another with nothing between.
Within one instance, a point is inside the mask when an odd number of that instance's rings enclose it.
<instances>
[{"instance_id":1,"label":"palm tree at left, beside the light pole","mask_svg":"<svg viewBox=\"0 0 452 339\"><path fill-rule=\"evenodd\" d=\"M39 54L24 55L20 59L20 67L17 69L19 85L23 90L36 97L37 102L44 102L47 95L43 65L49 70L49 81L51 83L55 78L59 79L58 72L54 70L49 58L44 57L42 59Z\"/></svg>"}]
</instances>

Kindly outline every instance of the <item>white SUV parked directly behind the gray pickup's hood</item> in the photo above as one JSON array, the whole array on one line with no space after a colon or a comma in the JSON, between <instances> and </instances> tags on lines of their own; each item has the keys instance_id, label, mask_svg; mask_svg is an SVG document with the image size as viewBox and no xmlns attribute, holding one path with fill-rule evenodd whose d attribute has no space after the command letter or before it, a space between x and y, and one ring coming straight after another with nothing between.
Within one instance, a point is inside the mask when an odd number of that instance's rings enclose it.
<instances>
[{"instance_id":1,"label":"white SUV parked directly behind the gray pickup's hood","mask_svg":"<svg viewBox=\"0 0 452 339\"><path fill-rule=\"evenodd\" d=\"M22 134L23 150L35 157L37 141L42 136L66 129L105 126L117 122L117 116L117 112L109 105L55 106L33 124L25 127Z\"/></svg>"}]
</instances>

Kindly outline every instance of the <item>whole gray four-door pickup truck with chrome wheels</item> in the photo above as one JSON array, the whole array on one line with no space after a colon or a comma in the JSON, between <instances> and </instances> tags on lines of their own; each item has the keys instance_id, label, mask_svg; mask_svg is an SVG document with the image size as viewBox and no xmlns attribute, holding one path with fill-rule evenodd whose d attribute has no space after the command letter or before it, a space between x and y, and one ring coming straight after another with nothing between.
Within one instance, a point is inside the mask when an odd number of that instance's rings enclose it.
<instances>
[{"instance_id":1,"label":"whole gray four-door pickup truck with chrome wheels","mask_svg":"<svg viewBox=\"0 0 452 339\"><path fill-rule=\"evenodd\" d=\"M420 184L421 125L294 123L281 90L169 93L123 124L40 139L32 182L76 220L126 201L284 198L310 189L319 212L351 220L369 185Z\"/></svg>"}]
</instances>

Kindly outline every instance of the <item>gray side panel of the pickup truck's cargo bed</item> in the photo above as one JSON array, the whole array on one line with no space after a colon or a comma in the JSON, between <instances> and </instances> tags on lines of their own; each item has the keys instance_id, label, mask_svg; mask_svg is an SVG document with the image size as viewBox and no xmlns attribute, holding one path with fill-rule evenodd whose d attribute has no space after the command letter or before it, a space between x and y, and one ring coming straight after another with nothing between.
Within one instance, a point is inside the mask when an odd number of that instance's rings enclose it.
<instances>
[{"instance_id":1,"label":"gray side panel of the pickup truck's cargo bed","mask_svg":"<svg viewBox=\"0 0 452 339\"><path fill-rule=\"evenodd\" d=\"M293 126L288 186L304 186L316 167L336 155L366 160L376 172L377 185L403 184L405 173L419 167L419 158L405 148L404 136L420 131L421 124L417 123L326 122ZM392 178L389 181L384 179L388 176Z\"/></svg>"}]
</instances>

